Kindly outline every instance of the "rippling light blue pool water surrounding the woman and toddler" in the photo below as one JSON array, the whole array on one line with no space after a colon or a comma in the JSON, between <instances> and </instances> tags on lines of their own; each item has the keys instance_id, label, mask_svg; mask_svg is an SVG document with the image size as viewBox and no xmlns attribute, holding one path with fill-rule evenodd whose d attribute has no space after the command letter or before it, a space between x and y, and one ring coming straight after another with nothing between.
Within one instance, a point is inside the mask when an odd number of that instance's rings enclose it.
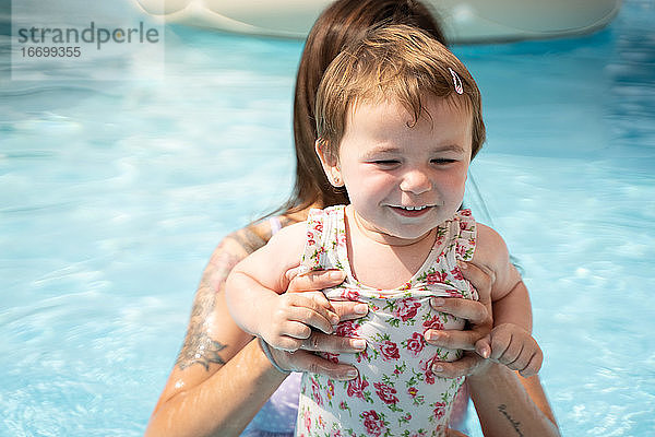
<instances>
[{"instance_id":1,"label":"rippling light blue pool water surrounding the woman and toddler","mask_svg":"<svg viewBox=\"0 0 655 437\"><path fill-rule=\"evenodd\" d=\"M0 37L0 435L139 436L212 249L289 192L301 43L170 26L152 81L15 81ZM655 3L454 50L563 435L655 435Z\"/></svg>"}]
</instances>

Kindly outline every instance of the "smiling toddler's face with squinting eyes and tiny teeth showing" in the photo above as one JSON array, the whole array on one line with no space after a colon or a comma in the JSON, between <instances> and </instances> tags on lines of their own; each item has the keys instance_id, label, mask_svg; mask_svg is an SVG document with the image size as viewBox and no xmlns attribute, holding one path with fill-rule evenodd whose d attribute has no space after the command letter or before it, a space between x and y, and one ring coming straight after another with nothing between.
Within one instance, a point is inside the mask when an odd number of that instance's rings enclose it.
<instances>
[{"instance_id":1,"label":"smiling toddler's face with squinting eyes and tiny teeth showing","mask_svg":"<svg viewBox=\"0 0 655 437\"><path fill-rule=\"evenodd\" d=\"M443 98L426 96L413 117L395 101L361 103L350 113L337 163L366 232L410 244L450 218L462 204L472 147L472 116ZM412 127L409 127L412 126Z\"/></svg>"}]
</instances>

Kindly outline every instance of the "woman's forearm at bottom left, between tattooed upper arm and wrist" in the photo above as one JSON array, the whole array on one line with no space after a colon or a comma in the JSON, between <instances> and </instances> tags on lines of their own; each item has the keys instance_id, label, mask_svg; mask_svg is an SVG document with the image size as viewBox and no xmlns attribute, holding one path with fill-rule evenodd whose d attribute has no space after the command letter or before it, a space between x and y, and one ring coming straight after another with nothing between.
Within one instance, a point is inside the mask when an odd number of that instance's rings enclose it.
<instances>
[{"instance_id":1,"label":"woman's forearm at bottom left, between tattooed upper arm and wrist","mask_svg":"<svg viewBox=\"0 0 655 437\"><path fill-rule=\"evenodd\" d=\"M204 383L157 405L145 436L238 436L285 377L251 341Z\"/></svg>"}]
</instances>

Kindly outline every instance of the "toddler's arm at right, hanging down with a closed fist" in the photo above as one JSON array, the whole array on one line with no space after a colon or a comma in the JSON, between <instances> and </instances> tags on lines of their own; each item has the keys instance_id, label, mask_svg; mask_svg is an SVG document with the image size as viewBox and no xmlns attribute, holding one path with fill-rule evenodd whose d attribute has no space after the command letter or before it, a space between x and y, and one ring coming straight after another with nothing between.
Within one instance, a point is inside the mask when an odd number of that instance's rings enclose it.
<instances>
[{"instance_id":1,"label":"toddler's arm at right, hanging down with a closed fist","mask_svg":"<svg viewBox=\"0 0 655 437\"><path fill-rule=\"evenodd\" d=\"M474 258L487 264L496 279L491 287L493 328L476 344L483 356L519 370L522 376L536 375L544 354L532 336L532 306L527 288L510 262L508 248L500 235L478 224L478 247Z\"/></svg>"}]
</instances>

